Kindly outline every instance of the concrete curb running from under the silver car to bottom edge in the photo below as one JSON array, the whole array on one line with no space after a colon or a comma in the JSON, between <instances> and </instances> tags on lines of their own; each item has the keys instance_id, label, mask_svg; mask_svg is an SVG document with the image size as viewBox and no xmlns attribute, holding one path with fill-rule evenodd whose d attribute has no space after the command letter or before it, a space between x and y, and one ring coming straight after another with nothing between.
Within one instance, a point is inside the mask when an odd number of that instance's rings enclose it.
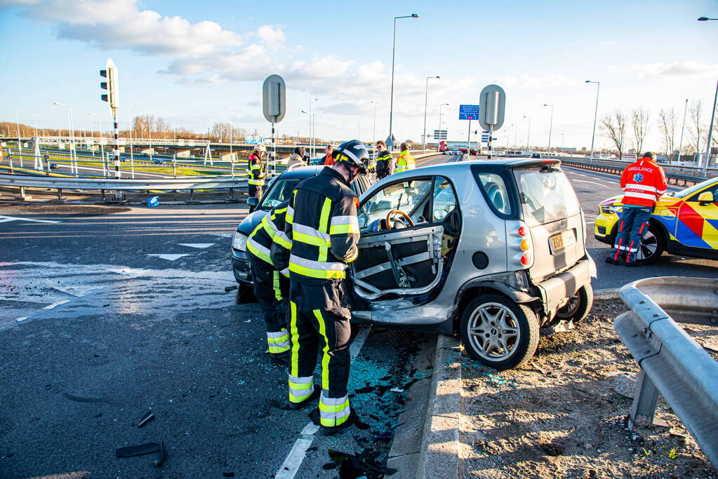
<instances>
[{"instance_id":1,"label":"concrete curb running from under the silver car to bottom edge","mask_svg":"<svg viewBox=\"0 0 718 479\"><path fill-rule=\"evenodd\" d=\"M416 477L459 477L459 425L461 420L461 363L456 361L460 341L440 335L434 354L434 375L429 388L424 438Z\"/></svg>"}]
</instances>

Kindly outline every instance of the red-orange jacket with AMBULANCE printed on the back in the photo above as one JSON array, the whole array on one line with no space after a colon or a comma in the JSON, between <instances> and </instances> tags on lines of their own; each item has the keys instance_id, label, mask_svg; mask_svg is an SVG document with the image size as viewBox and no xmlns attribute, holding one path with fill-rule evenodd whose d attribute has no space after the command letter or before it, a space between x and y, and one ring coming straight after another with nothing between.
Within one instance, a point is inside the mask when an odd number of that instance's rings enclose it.
<instances>
[{"instance_id":1,"label":"red-orange jacket with AMBULANCE printed on the back","mask_svg":"<svg viewBox=\"0 0 718 479\"><path fill-rule=\"evenodd\" d=\"M666 193L666 174L651 158L640 158L626 166L621 174L623 204L636 207L653 207Z\"/></svg>"}]
</instances>

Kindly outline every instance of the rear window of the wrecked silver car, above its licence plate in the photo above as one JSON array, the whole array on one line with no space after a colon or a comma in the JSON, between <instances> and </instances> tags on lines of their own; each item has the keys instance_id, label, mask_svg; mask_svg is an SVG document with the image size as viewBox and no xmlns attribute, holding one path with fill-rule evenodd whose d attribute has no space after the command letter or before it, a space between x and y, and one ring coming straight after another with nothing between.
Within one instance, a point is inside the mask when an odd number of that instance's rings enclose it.
<instances>
[{"instance_id":1,"label":"rear window of the wrecked silver car, above its licence plate","mask_svg":"<svg viewBox=\"0 0 718 479\"><path fill-rule=\"evenodd\" d=\"M558 166L513 171L528 226L546 224L579 214L576 192Z\"/></svg>"}]
</instances>

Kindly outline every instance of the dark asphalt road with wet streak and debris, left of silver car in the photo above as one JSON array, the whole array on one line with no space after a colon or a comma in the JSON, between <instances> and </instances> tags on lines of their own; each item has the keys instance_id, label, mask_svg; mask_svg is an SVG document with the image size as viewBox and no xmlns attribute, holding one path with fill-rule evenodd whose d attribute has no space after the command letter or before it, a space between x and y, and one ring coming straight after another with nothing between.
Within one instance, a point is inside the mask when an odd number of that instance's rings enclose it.
<instances>
[{"instance_id":1,"label":"dark asphalt road with wet streak and debris, left of silver car","mask_svg":"<svg viewBox=\"0 0 718 479\"><path fill-rule=\"evenodd\" d=\"M1 478L329 478L329 449L388 451L426 336L358 331L350 392L370 429L314 435L307 411L282 408L258 306L225 292L244 214L0 206ZM164 443L162 468L115 457L146 442Z\"/></svg>"}]
</instances>

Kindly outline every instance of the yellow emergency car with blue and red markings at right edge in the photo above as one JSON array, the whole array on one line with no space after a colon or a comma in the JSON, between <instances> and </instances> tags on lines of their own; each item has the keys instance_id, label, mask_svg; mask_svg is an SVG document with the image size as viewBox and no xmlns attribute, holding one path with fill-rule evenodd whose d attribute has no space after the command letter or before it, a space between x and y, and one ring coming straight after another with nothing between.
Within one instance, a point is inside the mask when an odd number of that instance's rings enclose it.
<instances>
[{"instance_id":1,"label":"yellow emergency car with blue and red markings at right edge","mask_svg":"<svg viewBox=\"0 0 718 479\"><path fill-rule=\"evenodd\" d=\"M594 236L613 245L623 212L623 196L609 198L599 206ZM718 260L718 178L695 184L656 202L648 232L636 262L647 264L667 251L672 255Z\"/></svg>"}]
</instances>

